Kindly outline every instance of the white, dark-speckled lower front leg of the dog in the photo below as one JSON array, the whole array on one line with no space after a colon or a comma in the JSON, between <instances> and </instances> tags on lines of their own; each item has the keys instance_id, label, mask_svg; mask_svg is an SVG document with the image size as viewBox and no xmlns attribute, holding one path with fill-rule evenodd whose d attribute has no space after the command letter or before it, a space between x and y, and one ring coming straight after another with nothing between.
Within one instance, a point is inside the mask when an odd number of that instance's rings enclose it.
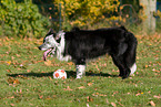
<instances>
[{"instance_id":1,"label":"white, dark-speckled lower front leg of the dog","mask_svg":"<svg viewBox=\"0 0 161 107\"><path fill-rule=\"evenodd\" d=\"M77 71L77 78L81 78L83 75L85 75L85 65L76 65Z\"/></svg>"}]
</instances>

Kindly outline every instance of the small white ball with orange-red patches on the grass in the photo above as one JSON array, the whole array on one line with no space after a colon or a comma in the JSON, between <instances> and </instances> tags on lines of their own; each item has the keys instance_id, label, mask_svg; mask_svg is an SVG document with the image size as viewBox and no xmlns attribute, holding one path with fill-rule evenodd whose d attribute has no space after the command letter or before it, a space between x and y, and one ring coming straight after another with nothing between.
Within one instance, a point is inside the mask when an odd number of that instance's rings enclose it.
<instances>
[{"instance_id":1,"label":"small white ball with orange-red patches on the grass","mask_svg":"<svg viewBox=\"0 0 161 107\"><path fill-rule=\"evenodd\" d=\"M57 69L53 72L53 78L62 78L66 79L67 78L67 73L63 69Z\"/></svg>"}]
</instances>

